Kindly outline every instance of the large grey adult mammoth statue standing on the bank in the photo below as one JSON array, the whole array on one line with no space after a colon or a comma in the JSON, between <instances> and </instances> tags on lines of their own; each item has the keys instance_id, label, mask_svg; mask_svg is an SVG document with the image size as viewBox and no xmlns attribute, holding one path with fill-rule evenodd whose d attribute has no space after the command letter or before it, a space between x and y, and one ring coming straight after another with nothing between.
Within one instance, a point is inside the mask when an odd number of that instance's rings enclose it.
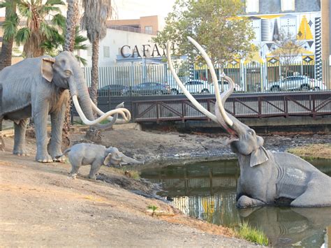
<instances>
[{"instance_id":1,"label":"large grey adult mammoth statue standing on the bank","mask_svg":"<svg viewBox=\"0 0 331 248\"><path fill-rule=\"evenodd\" d=\"M36 129L36 161L64 161L61 152L62 126L70 94L82 122L96 128L108 128L115 123L131 119L126 108L106 113L99 110L89 98L82 68L71 52L61 52L57 57L24 59L0 72L0 122L14 122L15 143L13 153L26 156L24 147L28 118ZM93 110L101 115L94 119ZM47 116L50 114L52 138L47 151ZM123 119L117 119L117 115ZM112 115L115 115L112 117ZM99 124L108 119L107 124Z\"/></svg>"}]
</instances>

